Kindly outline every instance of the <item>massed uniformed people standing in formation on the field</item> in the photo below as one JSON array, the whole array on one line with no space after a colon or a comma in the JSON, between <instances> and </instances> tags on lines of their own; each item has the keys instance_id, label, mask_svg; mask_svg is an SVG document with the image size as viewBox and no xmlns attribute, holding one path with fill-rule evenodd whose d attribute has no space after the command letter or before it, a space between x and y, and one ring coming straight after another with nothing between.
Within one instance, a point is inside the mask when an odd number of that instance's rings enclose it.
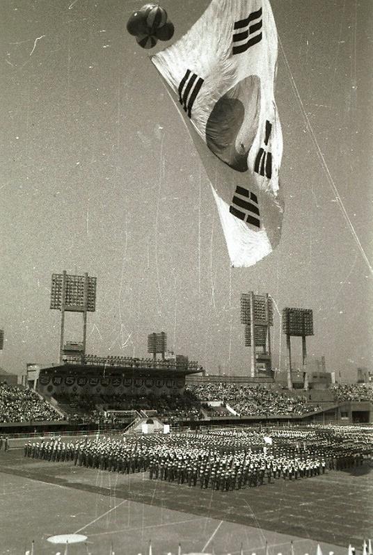
<instances>
[{"instance_id":1,"label":"massed uniformed people standing in formation on the field","mask_svg":"<svg viewBox=\"0 0 373 555\"><path fill-rule=\"evenodd\" d=\"M58 437L28 442L24 456L122 474L149 472L151 480L229 491L362 465L372 454L371 437L323 428L86 436L76 442Z\"/></svg>"}]
</instances>

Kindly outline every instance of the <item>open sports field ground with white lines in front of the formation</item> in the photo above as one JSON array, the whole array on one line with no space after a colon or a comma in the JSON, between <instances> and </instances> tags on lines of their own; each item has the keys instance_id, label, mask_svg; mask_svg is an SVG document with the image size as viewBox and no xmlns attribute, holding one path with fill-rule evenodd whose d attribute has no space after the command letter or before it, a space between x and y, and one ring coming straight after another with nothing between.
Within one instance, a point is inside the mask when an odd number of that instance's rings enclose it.
<instances>
[{"instance_id":1,"label":"open sports field ground with white lines in front of the formation","mask_svg":"<svg viewBox=\"0 0 373 555\"><path fill-rule=\"evenodd\" d=\"M150 481L145 474L116 474L72 463L24 458L22 449L0 452L0 553L63 553L49 536L82 533L87 545L69 554L183 553L245 555L347 554L373 537L370 467L234 492Z\"/></svg>"}]
</instances>

